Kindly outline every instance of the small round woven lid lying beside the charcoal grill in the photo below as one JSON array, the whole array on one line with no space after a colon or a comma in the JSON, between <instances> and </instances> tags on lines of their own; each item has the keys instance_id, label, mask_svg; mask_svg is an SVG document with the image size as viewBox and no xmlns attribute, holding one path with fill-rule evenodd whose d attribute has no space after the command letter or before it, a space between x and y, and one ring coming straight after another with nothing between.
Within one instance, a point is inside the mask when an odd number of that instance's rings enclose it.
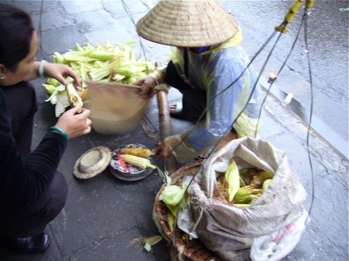
<instances>
[{"instance_id":1,"label":"small round woven lid lying beside the charcoal grill","mask_svg":"<svg viewBox=\"0 0 349 261\"><path fill-rule=\"evenodd\" d=\"M92 148L77 161L73 168L73 175L80 179L89 179L101 173L107 168L112 159L112 152L105 146Z\"/></svg>"}]
</instances>

